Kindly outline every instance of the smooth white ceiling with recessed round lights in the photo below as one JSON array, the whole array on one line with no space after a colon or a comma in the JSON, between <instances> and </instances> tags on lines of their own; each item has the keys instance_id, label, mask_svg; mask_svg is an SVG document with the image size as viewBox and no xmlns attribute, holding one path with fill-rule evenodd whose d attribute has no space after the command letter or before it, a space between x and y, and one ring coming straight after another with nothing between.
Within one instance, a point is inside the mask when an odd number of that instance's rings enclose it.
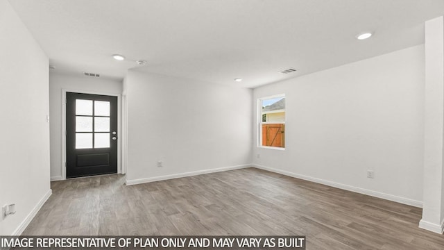
<instances>
[{"instance_id":1,"label":"smooth white ceiling with recessed round lights","mask_svg":"<svg viewBox=\"0 0 444 250\"><path fill-rule=\"evenodd\" d=\"M424 22L444 15L444 0L9 1L55 72L135 68L242 88L422 44ZM364 31L375 35L357 40Z\"/></svg>"}]
</instances>

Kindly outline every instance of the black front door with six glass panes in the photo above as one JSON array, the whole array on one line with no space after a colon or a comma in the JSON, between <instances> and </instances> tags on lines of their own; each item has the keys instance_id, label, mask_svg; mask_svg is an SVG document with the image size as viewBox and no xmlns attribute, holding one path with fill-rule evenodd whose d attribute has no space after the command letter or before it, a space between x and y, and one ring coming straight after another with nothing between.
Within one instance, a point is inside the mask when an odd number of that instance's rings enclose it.
<instances>
[{"instance_id":1,"label":"black front door with six glass panes","mask_svg":"<svg viewBox=\"0 0 444 250\"><path fill-rule=\"evenodd\" d=\"M67 92L67 178L117 173L117 97Z\"/></svg>"}]
</instances>

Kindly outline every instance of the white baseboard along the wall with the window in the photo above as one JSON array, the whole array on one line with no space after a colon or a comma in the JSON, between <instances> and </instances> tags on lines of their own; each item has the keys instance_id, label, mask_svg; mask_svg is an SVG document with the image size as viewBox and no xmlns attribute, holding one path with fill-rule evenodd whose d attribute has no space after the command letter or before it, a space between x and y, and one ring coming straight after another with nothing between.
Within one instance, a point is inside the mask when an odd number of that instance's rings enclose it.
<instances>
[{"instance_id":1,"label":"white baseboard along the wall with the window","mask_svg":"<svg viewBox=\"0 0 444 250\"><path fill-rule=\"evenodd\" d=\"M275 173L278 173L278 174L283 174L283 175L286 175L286 176L291 176L291 177L294 177L294 178L300 178L300 179L306 180L306 181L312 181L314 183L320 183L320 184L323 184L323 185L328 185L328 186L334 187L334 188L341 188L343 190L357 192L359 194L366 194L366 195L370 195L372 197L377 197L377 198L381 198L381 199L386 199L388 201L395 201L395 202L403 203L403 204L406 204L406 205L409 205L409 206L415 206L415 207L418 207L418 208L422 208L422 201L416 201L416 200L413 200L413 199L408 199L408 198L404 198L404 197L398 197L398 196L395 196L393 194L385 194L385 193L382 193L382 192L377 192L377 191L373 191L373 190L367 190L367 189L364 189L364 188L357 188L357 187L354 187L354 186L351 186L351 185L345 185L345 184L342 184L342 183L335 183L333 181L326 181L326 180L323 180L321 178L314 178L314 177L305 176L305 175L302 175L302 174L295 174L295 173L292 173L292 172L287 172L287 171L283 171L283 170L280 170L280 169L274 169L274 168L271 168L271 167L265 167L265 166L262 166L262 165L253 164L253 167L256 167L258 169L264 169L264 170L270 171L270 172L275 172Z\"/></svg>"}]
</instances>

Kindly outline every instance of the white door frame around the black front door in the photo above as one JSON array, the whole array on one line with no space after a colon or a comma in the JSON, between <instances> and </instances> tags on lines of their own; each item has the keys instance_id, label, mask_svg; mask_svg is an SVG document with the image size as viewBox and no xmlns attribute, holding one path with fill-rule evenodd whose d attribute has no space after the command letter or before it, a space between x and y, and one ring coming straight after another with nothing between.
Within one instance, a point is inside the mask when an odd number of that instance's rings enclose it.
<instances>
[{"instance_id":1,"label":"white door frame around the black front door","mask_svg":"<svg viewBox=\"0 0 444 250\"><path fill-rule=\"evenodd\" d=\"M126 164L122 160L122 152L126 151L125 144L126 133L122 133L122 97L121 94L106 93L106 92L94 92L85 90L73 90L62 88L62 180L67 178L67 92L82 93L82 94L101 94L108 95L111 97L117 97L117 173L126 174ZM126 128L125 128L126 129ZM124 155L124 154L123 154ZM122 164L123 163L123 164Z\"/></svg>"}]
</instances>

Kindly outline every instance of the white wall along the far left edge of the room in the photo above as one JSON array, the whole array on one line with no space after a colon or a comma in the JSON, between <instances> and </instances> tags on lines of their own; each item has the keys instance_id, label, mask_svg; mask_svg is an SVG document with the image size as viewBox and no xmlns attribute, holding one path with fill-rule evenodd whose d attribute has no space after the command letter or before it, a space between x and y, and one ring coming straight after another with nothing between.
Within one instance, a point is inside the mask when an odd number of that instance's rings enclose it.
<instances>
[{"instance_id":1,"label":"white wall along the far left edge of the room","mask_svg":"<svg viewBox=\"0 0 444 250\"><path fill-rule=\"evenodd\" d=\"M18 235L51 195L48 58L8 1L0 0L0 206L17 213L0 235Z\"/></svg>"}]
</instances>

